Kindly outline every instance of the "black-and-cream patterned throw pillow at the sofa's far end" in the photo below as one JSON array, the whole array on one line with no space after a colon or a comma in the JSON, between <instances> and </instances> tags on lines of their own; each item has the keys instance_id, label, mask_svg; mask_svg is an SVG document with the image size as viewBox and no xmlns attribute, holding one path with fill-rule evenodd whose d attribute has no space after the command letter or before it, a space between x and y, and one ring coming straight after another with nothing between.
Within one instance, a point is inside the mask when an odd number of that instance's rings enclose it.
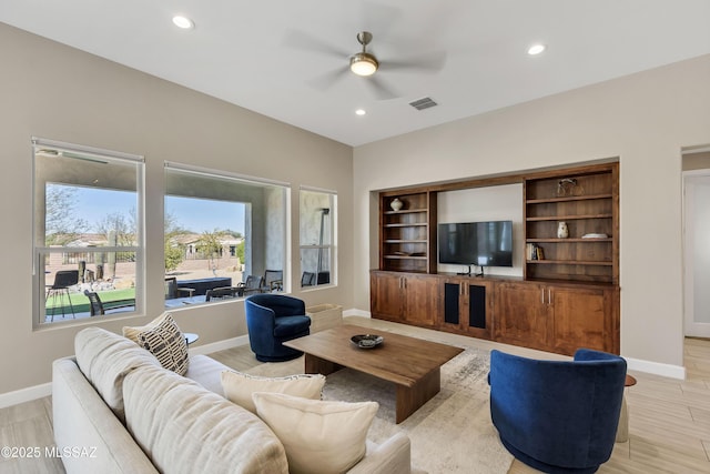
<instances>
[{"instance_id":1,"label":"black-and-cream patterned throw pillow at the sofa's far end","mask_svg":"<svg viewBox=\"0 0 710 474\"><path fill-rule=\"evenodd\" d=\"M187 372L187 342L170 313L161 314L144 326L125 326L123 335L149 350L169 371L180 375Z\"/></svg>"}]
</instances>

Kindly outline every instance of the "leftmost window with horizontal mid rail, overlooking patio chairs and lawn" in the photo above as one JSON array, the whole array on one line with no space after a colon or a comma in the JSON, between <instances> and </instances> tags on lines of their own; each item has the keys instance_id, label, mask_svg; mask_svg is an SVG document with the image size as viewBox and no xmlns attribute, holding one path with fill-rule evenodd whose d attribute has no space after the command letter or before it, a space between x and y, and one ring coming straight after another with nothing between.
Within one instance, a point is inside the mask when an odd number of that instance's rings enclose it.
<instances>
[{"instance_id":1,"label":"leftmost window with horizontal mid rail, overlooking patio chairs and lawn","mask_svg":"<svg viewBox=\"0 0 710 474\"><path fill-rule=\"evenodd\" d=\"M33 325L135 312L144 274L142 157L32 144Z\"/></svg>"}]
</instances>

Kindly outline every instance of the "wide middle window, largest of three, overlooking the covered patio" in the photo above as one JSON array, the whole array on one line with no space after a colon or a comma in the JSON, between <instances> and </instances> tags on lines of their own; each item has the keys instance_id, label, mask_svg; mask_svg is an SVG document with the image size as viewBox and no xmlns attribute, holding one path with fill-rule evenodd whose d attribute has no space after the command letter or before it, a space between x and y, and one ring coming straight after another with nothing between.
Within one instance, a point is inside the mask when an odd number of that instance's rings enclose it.
<instances>
[{"instance_id":1,"label":"wide middle window, largest of three, overlooking the covered patio","mask_svg":"<svg viewBox=\"0 0 710 474\"><path fill-rule=\"evenodd\" d=\"M285 291L287 200L284 183L165 163L165 306L207 302L214 289L210 302Z\"/></svg>"}]
</instances>

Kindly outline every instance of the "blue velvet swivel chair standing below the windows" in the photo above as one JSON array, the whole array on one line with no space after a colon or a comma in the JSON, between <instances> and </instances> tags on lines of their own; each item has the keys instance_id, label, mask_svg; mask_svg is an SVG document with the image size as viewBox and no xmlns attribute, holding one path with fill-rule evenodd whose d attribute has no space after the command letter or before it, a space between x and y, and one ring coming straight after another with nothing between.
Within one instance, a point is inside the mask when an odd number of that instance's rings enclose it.
<instances>
[{"instance_id":1,"label":"blue velvet swivel chair standing below the windows","mask_svg":"<svg viewBox=\"0 0 710 474\"><path fill-rule=\"evenodd\" d=\"M302 300L285 294L258 293L244 300L248 343L262 362L281 362L303 354L283 342L311 333L311 317Z\"/></svg>"}]
</instances>

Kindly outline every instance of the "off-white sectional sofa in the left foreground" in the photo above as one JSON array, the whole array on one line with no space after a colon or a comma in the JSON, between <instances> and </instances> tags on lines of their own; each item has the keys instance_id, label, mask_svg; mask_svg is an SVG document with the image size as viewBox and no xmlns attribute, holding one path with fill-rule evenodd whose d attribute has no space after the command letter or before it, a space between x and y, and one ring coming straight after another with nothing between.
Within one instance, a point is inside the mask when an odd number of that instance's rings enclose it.
<instances>
[{"instance_id":1,"label":"off-white sectional sofa in the left foreground","mask_svg":"<svg viewBox=\"0 0 710 474\"><path fill-rule=\"evenodd\" d=\"M225 365L190 357L185 376L134 342L89 327L77 354L54 361L54 440L73 473L286 473L284 446L258 416L223 396ZM409 438L397 434L348 473L410 473ZM72 451L73 450L73 451Z\"/></svg>"}]
</instances>

